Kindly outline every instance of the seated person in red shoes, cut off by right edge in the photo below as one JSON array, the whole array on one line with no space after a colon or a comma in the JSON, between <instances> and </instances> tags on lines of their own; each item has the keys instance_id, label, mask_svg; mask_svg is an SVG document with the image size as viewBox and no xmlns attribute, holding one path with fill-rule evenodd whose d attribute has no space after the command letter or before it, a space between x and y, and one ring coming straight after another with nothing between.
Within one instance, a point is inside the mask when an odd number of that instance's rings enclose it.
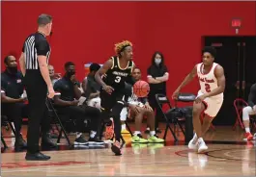
<instances>
[{"instance_id":1,"label":"seated person in red shoes, cut off by right edge","mask_svg":"<svg viewBox=\"0 0 256 177\"><path fill-rule=\"evenodd\" d=\"M250 133L250 115L256 114L256 83L251 86L250 93L248 96L248 105L242 109L242 121L245 127L245 139L252 140L256 139L256 134L254 136Z\"/></svg>"}]
</instances>

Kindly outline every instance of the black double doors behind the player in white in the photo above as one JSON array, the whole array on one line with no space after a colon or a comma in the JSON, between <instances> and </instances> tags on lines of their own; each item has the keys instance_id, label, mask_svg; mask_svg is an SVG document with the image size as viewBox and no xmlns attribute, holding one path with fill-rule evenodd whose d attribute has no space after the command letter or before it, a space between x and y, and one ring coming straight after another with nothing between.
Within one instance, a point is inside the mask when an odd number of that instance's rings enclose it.
<instances>
[{"instance_id":1,"label":"black double doors behind the player in white","mask_svg":"<svg viewBox=\"0 0 256 177\"><path fill-rule=\"evenodd\" d=\"M215 47L215 63L223 66L226 77L224 102L213 120L215 125L234 125L236 98L248 99L256 83L256 37L204 37L205 45Z\"/></svg>"}]
</instances>

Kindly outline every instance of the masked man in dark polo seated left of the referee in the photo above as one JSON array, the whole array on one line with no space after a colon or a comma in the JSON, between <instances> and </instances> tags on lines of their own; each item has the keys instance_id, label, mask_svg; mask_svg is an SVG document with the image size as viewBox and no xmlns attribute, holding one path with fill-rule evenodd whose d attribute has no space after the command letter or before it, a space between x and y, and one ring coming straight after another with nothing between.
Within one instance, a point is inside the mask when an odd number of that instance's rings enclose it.
<instances>
[{"instance_id":1,"label":"masked man in dark polo seated left of the referee","mask_svg":"<svg viewBox=\"0 0 256 177\"><path fill-rule=\"evenodd\" d=\"M7 115L8 118L14 121L15 127L15 143L14 150L19 151L26 147L27 144L20 134L22 125L22 118L28 117L28 105L25 104L27 100L26 96L23 96L23 76L20 71L17 70L17 63L14 56L7 56L4 60L6 70L1 74L1 107L2 114ZM43 134L42 144L43 146L55 147L49 134Z\"/></svg>"}]
</instances>

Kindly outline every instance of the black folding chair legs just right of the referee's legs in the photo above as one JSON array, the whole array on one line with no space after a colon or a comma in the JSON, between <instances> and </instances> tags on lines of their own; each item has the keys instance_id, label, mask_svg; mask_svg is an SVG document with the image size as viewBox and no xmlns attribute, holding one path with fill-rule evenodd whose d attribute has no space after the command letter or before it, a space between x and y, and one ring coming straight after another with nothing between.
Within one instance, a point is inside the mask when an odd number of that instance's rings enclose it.
<instances>
[{"instance_id":1,"label":"black folding chair legs just right of the referee's legs","mask_svg":"<svg viewBox=\"0 0 256 177\"><path fill-rule=\"evenodd\" d=\"M47 98L45 104L46 104L46 107L47 107L47 109L48 109L48 111L49 111L49 114L50 114L52 117L55 118L56 122L57 122L57 123L60 125L60 127L61 127L61 130L59 130L59 127L56 125L56 128L57 128L57 130L58 130L58 132L59 132L59 137L58 137L58 139L57 139L57 143L60 143L60 139L61 139L61 137L62 137L62 133L64 133L65 139L67 139L69 146L71 146L71 140L69 139L69 137L68 137L68 135L67 135L67 132L66 132L66 130L65 130L63 124L62 124L62 121L61 121L59 115L57 114L56 110L54 109L51 100Z\"/></svg>"}]
</instances>

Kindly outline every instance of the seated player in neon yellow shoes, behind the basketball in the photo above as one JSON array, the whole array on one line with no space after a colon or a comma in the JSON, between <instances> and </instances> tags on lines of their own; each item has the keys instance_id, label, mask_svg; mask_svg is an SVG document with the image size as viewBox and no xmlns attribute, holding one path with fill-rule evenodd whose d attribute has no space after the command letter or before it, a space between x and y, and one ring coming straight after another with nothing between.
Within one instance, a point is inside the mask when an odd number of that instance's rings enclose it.
<instances>
[{"instance_id":1,"label":"seated player in neon yellow shoes, behind the basketball","mask_svg":"<svg viewBox=\"0 0 256 177\"><path fill-rule=\"evenodd\" d=\"M137 82L141 79L141 71L139 68L134 68L132 72L133 79ZM131 142L133 143L146 143L146 142L163 142L163 139L159 139L156 136L155 131L155 114L153 109L150 107L147 98L138 98L134 93L133 89L131 89L131 96L128 97L128 104L132 104L136 106L134 111L130 111L130 117L135 117L135 131L133 133ZM150 138L143 139L140 129L141 123L144 116L147 116L148 125L150 126ZM126 120L128 117L128 108L123 108L121 112L121 120Z\"/></svg>"}]
</instances>

